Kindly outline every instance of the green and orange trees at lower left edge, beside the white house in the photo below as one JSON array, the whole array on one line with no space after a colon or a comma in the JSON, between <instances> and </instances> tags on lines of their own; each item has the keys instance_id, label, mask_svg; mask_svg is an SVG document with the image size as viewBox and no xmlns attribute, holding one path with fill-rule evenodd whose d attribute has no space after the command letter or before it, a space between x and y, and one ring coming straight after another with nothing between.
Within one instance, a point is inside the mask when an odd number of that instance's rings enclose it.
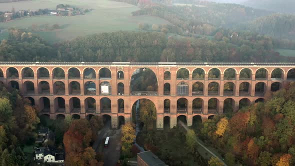
<instances>
[{"instance_id":1,"label":"green and orange trees at lower left edge, beside the white house","mask_svg":"<svg viewBox=\"0 0 295 166\"><path fill-rule=\"evenodd\" d=\"M37 110L16 90L8 92L0 86L0 165L25 165L30 159L22 151L35 138L40 122Z\"/></svg>"}]
</instances>

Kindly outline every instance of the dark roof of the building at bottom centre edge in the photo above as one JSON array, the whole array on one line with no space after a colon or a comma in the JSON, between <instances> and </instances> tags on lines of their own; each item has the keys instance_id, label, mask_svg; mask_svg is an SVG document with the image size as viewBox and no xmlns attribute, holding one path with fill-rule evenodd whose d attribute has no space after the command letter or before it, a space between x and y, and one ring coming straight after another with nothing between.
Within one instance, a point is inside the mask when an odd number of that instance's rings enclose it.
<instances>
[{"instance_id":1,"label":"dark roof of the building at bottom centre edge","mask_svg":"<svg viewBox=\"0 0 295 166\"><path fill-rule=\"evenodd\" d=\"M168 166L160 160L156 155L154 155L151 151L143 151L140 153L137 153L137 156L139 156L147 165L154 165L154 166Z\"/></svg>"}]
</instances>

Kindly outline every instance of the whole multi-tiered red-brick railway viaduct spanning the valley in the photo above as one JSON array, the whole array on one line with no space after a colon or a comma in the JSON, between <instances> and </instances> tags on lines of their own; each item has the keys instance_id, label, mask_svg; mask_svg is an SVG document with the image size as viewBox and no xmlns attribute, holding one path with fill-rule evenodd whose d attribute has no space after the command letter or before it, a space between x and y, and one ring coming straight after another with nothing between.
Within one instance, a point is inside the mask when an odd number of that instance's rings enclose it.
<instances>
[{"instance_id":1,"label":"whole multi-tiered red-brick railway viaduct spanning the valley","mask_svg":"<svg viewBox=\"0 0 295 166\"><path fill-rule=\"evenodd\" d=\"M140 68L155 73L157 91L130 90L131 76ZM55 74L55 70L60 71ZM177 76L180 70L187 77ZM211 70L217 75L212 77ZM242 73L246 70L249 74ZM175 126L178 117L192 125L194 118L223 113L228 109L225 102L235 111L262 101L265 93L293 80L295 63L0 62L0 83L19 89L41 114L50 118L103 115L111 119L112 127L131 119L132 105L140 98L155 104L157 128L163 128L165 120ZM209 87L211 83L215 89Z\"/></svg>"}]
</instances>

